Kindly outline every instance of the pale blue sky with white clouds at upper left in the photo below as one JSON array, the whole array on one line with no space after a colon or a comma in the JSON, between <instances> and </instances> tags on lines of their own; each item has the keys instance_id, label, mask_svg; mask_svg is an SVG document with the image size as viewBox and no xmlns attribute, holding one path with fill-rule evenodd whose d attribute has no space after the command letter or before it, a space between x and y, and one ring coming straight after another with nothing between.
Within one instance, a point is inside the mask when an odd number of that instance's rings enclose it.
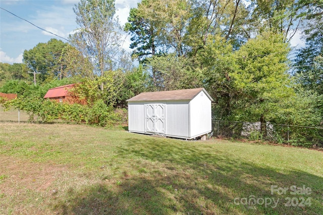
<instances>
[{"instance_id":1,"label":"pale blue sky with white clouds at upper left","mask_svg":"<svg viewBox=\"0 0 323 215\"><path fill-rule=\"evenodd\" d=\"M79 0L0 0L0 7L47 31L68 38L78 28L73 12L78 2ZM121 25L127 22L130 8L137 7L138 2L140 0L116 0L116 15ZM21 63L24 50L32 49L51 38L61 39L0 9L0 62ZM128 51L129 44L128 36L124 44Z\"/></svg>"}]
</instances>

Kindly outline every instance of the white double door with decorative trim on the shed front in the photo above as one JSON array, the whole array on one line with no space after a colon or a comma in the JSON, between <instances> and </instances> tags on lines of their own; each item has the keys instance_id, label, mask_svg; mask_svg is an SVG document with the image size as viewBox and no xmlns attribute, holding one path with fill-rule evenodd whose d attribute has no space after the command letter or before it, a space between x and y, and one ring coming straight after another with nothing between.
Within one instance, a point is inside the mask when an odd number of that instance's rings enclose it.
<instances>
[{"instance_id":1,"label":"white double door with decorative trim on the shed front","mask_svg":"<svg viewBox=\"0 0 323 215\"><path fill-rule=\"evenodd\" d=\"M145 132L165 133L165 104L145 104Z\"/></svg>"}]
</instances>

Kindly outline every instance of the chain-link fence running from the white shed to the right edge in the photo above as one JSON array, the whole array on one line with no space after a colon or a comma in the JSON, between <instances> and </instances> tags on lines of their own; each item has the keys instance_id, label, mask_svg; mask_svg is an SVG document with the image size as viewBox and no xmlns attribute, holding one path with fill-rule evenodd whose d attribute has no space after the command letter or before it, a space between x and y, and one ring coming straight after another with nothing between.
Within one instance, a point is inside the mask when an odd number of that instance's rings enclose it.
<instances>
[{"instance_id":1,"label":"chain-link fence running from the white shed to the right edge","mask_svg":"<svg viewBox=\"0 0 323 215\"><path fill-rule=\"evenodd\" d=\"M323 127L213 120L212 128L212 136L215 137L247 138L292 146L323 148Z\"/></svg>"}]
</instances>

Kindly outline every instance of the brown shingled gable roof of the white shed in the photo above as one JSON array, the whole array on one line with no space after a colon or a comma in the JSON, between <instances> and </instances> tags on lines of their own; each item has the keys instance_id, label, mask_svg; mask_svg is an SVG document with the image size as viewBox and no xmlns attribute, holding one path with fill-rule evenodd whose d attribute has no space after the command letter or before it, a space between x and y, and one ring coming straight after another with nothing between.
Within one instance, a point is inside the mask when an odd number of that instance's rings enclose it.
<instances>
[{"instance_id":1,"label":"brown shingled gable roof of the white shed","mask_svg":"<svg viewBox=\"0 0 323 215\"><path fill-rule=\"evenodd\" d=\"M127 100L127 102L134 101L165 101L165 100L192 100L201 91L213 101L204 88L186 89L186 90L171 90L140 93Z\"/></svg>"}]
</instances>

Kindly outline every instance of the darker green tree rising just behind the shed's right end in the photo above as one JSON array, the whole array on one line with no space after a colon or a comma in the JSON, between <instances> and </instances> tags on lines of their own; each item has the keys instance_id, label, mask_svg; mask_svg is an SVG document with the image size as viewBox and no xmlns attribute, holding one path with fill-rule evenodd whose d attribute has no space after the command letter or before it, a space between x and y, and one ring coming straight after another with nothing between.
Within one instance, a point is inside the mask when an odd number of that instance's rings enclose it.
<instances>
[{"instance_id":1,"label":"darker green tree rising just behind the shed's right end","mask_svg":"<svg viewBox=\"0 0 323 215\"><path fill-rule=\"evenodd\" d=\"M233 47L220 35L208 36L194 60L194 76L214 100L214 117L228 119L237 99L231 74L237 69Z\"/></svg>"}]
</instances>

